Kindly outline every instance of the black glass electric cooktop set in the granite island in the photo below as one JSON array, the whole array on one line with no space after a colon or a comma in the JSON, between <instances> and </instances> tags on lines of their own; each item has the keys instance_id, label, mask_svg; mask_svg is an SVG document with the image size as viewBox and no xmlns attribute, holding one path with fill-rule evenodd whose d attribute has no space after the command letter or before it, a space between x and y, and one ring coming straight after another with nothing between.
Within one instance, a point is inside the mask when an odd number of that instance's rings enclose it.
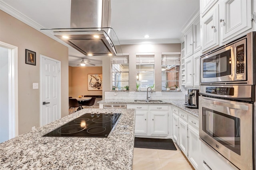
<instances>
[{"instance_id":1,"label":"black glass electric cooktop set in the granite island","mask_svg":"<svg viewBox=\"0 0 256 170\"><path fill-rule=\"evenodd\" d=\"M110 137L121 113L85 113L44 137Z\"/></svg>"}]
</instances>

